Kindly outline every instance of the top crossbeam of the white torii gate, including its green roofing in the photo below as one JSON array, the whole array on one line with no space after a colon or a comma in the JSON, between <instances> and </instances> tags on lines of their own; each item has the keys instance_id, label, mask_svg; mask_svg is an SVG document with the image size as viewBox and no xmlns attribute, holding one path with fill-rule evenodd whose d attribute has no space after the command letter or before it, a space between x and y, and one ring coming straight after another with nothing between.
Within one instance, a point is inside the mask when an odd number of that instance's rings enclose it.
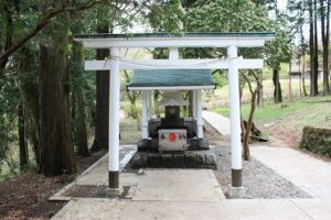
<instances>
[{"instance_id":1,"label":"top crossbeam of the white torii gate, including its green roofing","mask_svg":"<svg viewBox=\"0 0 331 220\"><path fill-rule=\"evenodd\" d=\"M78 34L75 41L87 48L116 47L260 47L275 38L273 32L255 33L140 33L140 34Z\"/></svg>"}]
</instances>

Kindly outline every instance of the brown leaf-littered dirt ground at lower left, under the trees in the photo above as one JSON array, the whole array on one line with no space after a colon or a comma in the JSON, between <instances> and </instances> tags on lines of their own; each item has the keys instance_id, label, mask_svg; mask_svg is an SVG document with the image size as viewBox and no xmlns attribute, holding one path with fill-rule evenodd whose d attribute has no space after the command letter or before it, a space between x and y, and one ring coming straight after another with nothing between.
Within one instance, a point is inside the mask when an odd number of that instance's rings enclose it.
<instances>
[{"instance_id":1,"label":"brown leaf-littered dirt ground at lower left, under the trees","mask_svg":"<svg viewBox=\"0 0 331 220\"><path fill-rule=\"evenodd\" d=\"M102 157L106 152L96 152L89 157L77 157L77 174ZM0 183L0 219L50 219L65 202L47 199L76 175L44 177L29 172Z\"/></svg>"}]
</instances>

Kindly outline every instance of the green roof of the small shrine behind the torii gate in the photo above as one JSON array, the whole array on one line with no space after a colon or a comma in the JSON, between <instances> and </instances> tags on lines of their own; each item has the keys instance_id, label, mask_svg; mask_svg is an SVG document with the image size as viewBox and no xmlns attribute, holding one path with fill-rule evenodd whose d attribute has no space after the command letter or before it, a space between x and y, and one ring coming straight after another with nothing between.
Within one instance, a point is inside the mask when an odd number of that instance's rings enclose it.
<instances>
[{"instance_id":1,"label":"green roof of the small shrine behind the torii gate","mask_svg":"<svg viewBox=\"0 0 331 220\"><path fill-rule=\"evenodd\" d=\"M132 87L215 86L209 69L135 70L128 88Z\"/></svg>"}]
</instances>

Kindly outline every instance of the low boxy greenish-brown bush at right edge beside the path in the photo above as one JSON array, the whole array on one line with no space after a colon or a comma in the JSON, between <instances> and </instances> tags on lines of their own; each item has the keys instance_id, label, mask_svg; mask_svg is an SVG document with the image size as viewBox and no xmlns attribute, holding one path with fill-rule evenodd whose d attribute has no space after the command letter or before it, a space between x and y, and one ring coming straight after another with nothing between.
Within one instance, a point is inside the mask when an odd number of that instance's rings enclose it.
<instances>
[{"instance_id":1,"label":"low boxy greenish-brown bush at right edge beside the path","mask_svg":"<svg viewBox=\"0 0 331 220\"><path fill-rule=\"evenodd\" d=\"M331 157L331 129L305 127L300 148Z\"/></svg>"}]
</instances>

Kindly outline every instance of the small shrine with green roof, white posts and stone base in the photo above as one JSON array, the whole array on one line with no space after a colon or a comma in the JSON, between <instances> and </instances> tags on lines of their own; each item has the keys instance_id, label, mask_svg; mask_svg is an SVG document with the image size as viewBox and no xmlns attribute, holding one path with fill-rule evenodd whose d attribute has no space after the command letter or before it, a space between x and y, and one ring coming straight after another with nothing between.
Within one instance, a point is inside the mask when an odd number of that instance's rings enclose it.
<instances>
[{"instance_id":1,"label":"small shrine with green roof, white posts and stone base","mask_svg":"<svg viewBox=\"0 0 331 220\"><path fill-rule=\"evenodd\" d=\"M215 155L203 135L202 91L214 89L215 81L210 69L159 69L135 70L129 90L142 94L141 140L132 166L196 168L216 166ZM154 102L164 114L153 118L151 95L161 94ZM183 99L191 92L192 101ZM184 108L191 108L185 117Z\"/></svg>"}]
</instances>

